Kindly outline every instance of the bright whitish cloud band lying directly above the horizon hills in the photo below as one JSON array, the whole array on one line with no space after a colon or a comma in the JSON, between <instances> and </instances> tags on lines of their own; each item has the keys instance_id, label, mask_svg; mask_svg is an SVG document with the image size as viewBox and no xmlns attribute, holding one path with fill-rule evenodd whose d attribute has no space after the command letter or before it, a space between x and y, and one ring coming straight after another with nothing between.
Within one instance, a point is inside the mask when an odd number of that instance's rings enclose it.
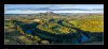
<instances>
[{"instance_id":1,"label":"bright whitish cloud band lying directly above the horizon hills","mask_svg":"<svg viewBox=\"0 0 108 49\"><path fill-rule=\"evenodd\" d=\"M5 11L5 14L37 14L37 13L104 13L103 11Z\"/></svg>"}]
</instances>

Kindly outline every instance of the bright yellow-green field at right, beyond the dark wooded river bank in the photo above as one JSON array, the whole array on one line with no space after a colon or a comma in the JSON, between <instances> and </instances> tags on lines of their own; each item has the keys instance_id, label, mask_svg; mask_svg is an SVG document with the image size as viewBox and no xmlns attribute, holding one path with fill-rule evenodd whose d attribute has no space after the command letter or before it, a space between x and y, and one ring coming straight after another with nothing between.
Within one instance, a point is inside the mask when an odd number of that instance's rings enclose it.
<instances>
[{"instance_id":1,"label":"bright yellow-green field at right, beyond the dark wooded river bank","mask_svg":"<svg viewBox=\"0 0 108 49\"><path fill-rule=\"evenodd\" d=\"M104 17L103 16L86 16L83 19L70 20L69 23L89 32L104 32Z\"/></svg>"}]
</instances>

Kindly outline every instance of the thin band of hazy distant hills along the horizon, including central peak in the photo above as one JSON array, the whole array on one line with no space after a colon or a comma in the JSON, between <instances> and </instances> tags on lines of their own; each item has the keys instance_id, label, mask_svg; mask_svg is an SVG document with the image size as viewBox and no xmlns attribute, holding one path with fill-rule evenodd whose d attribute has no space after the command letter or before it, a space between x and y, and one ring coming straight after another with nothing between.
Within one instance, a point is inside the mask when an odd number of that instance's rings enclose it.
<instances>
[{"instance_id":1,"label":"thin band of hazy distant hills along the horizon, including central peak","mask_svg":"<svg viewBox=\"0 0 108 49\"><path fill-rule=\"evenodd\" d=\"M40 15L63 15L63 16L77 16L77 15L104 15L103 13L38 13L38 14L4 14L4 16L40 16Z\"/></svg>"}]
</instances>

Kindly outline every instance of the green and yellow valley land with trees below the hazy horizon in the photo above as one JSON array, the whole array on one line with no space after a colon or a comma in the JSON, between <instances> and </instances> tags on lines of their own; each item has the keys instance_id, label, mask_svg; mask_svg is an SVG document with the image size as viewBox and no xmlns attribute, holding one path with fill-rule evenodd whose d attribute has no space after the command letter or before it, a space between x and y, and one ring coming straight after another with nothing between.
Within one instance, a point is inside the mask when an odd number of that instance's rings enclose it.
<instances>
[{"instance_id":1,"label":"green and yellow valley land with trees below the hazy horizon","mask_svg":"<svg viewBox=\"0 0 108 49\"><path fill-rule=\"evenodd\" d=\"M87 37L84 44L104 40L104 15L14 16L4 20L5 45L82 44L79 43L81 36Z\"/></svg>"}]
</instances>

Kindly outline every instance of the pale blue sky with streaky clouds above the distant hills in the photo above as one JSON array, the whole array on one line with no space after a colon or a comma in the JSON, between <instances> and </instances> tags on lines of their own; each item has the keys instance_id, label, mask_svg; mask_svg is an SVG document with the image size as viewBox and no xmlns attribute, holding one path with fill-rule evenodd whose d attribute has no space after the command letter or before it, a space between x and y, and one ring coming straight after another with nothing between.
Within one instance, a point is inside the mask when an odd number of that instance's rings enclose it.
<instances>
[{"instance_id":1,"label":"pale blue sky with streaky clouds above the distant hills","mask_svg":"<svg viewBox=\"0 0 108 49\"><path fill-rule=\"evenodd\" d=\"M104 13L104 4L4 4L4 14Z\"/></svg>"}]
</instances>

